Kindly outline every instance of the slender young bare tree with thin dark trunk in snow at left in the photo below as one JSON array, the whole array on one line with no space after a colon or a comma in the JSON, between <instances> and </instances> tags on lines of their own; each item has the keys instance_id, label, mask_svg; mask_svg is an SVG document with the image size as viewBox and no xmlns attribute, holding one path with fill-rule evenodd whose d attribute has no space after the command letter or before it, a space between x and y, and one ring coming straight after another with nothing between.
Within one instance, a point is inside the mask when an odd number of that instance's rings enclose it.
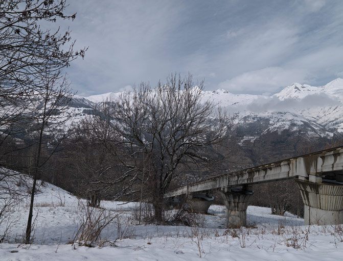
<instances>
[{"instance_id":1,"label":"slender young bare tree with thin dark trunk in snow at left","mask_svg":"<svg viewBox=\"0 0 343 261\"><path fill-rule=\"evenodd\" d=\"M31 240L31 225L34 196L36 193L37 180L40 178L44 165L51 155L56 152L59 144L65 139L67 132L59 132L59 128L68 120L66 111L73 93L69 83L60 73L47 74L42 81L45 83L44 92L38 93L31 100L31 119L34 119L31 128L31 140L29 155L29 174L33 177L31 189L30 210L26 229L26 244ZM43 89L43 88L42 88Z\"/></svg>"}]
</instances>

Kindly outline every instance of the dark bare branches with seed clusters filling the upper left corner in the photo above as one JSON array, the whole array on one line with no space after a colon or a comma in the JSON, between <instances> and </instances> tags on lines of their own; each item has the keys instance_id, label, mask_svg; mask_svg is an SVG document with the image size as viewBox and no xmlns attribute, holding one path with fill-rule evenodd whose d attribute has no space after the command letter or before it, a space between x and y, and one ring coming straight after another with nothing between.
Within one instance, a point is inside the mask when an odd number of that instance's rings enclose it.
<instances>
[{"instance_id":1,"label":"dark bare branches with seed clusters filling the upper left corner","mask_svg":"<svg viewBox=\"0 0 343 261\"><path fill-rule=\"evenodd\" d=\"M24 131L25 128L20 127L25 124L20 121L26 118L21 116L30 106L30 95L44 89L42 76L56 73L77 57L84 57L85 48L73 50L75 41L70 30L51 29L57 19L75 18L76 14L65 14L66 7L65 0L0 1L2 141ZM48 29L43 29L41 24Z\"/></svg>"}]
</instances>

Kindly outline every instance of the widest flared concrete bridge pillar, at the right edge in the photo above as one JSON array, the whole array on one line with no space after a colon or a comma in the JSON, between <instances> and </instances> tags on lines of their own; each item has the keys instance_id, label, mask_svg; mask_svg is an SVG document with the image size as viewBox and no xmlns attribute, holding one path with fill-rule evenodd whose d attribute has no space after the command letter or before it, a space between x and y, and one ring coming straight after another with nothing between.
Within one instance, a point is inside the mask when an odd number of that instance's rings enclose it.
<instances>
[{"instance_id":1,"label":"widest flared concrete bridge pillar, at the right edge","mask_svg":"<svg viewBox=\"0 0 343 261\"><path fill-rule=\"evenodd\" d=\"M296 180L305 204L305 225L343 224L343 186Z\"/></svg>"}]
</instances>

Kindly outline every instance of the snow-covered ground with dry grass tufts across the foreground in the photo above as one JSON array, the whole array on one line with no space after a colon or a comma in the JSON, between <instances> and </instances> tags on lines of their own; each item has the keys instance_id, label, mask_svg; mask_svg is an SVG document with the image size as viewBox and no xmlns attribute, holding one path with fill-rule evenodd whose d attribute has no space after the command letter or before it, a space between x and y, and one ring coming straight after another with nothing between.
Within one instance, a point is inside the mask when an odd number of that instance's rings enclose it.
<instances>
[{"instance_id":1,"label":"snow-covered ground with dry grass tufts across the foreground","mask_svg":"<svg viewBox=\"0 0 343 261\"><path fill-rule=\"evenodd\" d=\"M340 226L304 226L303 219L289 213L275 216L256 206L248 207L247 228L226 230L224 206L212 205L210 215L198 215L200 226L192 228L137 225L138 203L103 201L102 207L118 215L102 234L103 246L74 247L70 241L84 212L82 203L58 187L42 185L35 200L34 243L20 244L28 213L24 200L0 244L0 260L343 260Z\"/></svg>"}]
</instances>

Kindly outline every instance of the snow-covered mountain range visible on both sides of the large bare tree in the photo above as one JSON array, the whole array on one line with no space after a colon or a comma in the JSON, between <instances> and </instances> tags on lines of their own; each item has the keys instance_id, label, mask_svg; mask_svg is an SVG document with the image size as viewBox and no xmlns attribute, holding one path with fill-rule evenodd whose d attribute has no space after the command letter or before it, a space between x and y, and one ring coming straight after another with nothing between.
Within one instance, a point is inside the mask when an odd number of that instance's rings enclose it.
<instances>
[{"instance_id":1,"label":"snow-covered mountain range visible on both sides of the large bare tree","mask_svg":"<svg viewBox=\"0 0 343 261\"><path fill-rule=\"evenodd\" d=\"M92 114L97 103L117 98L119 94L76 95L70 113L77 122ZM271 96L233 94L223 89L203 91L202 99L213 100L235 115L237 126L246 129L242 141L285 131L305 138L343 135L343 79L340 78L318 87L293 83Z\"/></svg>"}]
</instances>

